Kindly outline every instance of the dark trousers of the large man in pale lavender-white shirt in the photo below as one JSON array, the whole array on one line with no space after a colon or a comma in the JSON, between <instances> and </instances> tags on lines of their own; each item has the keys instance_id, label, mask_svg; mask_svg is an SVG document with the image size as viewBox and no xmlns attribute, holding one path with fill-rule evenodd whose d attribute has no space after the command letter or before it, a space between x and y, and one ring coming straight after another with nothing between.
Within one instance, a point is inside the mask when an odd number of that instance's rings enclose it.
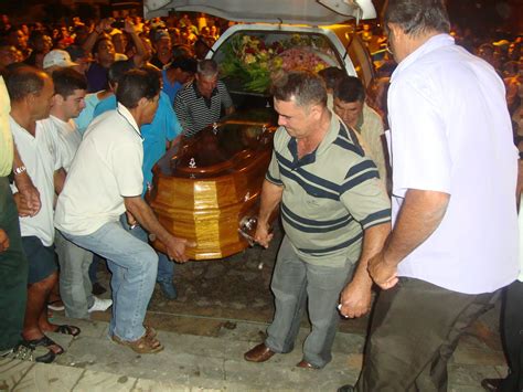
<instances>
[{"instance_id":1,"label":"dark trousers of the large man in pale lavender-white shirt","mask_svg":"<svg viewBox=\"0 0 523 392\"><path fill-rule=\"evenodd\" d=\"M356 391L447 391L447 362L459 337L494 296L460 294L414 278L382 290Z\"/></svg>"}]
</instances>

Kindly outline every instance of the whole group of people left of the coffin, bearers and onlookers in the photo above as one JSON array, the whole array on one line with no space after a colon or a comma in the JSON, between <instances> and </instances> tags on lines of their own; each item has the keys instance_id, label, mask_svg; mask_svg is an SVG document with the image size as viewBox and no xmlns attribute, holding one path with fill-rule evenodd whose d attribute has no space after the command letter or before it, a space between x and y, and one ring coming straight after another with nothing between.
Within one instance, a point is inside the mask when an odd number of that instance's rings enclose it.
<instances>
[{"instance_id":1,"label":"whole group of people left of the coffin, bearers and onlookers","mask_svg":"<svg viewBox=\"0 0 523 392\"><path fill-rule=\"evenodd\" d=\"M76 19L61 34L2 21L2 147L9 152L14 141L15 158L7 182L12 199L2 209L10 221L1 224L1 257L12 264L2 265L2 274L18 266L21 278L12 279L2 300L25 305L11 311L0 346L9 350L21 335L17 350L46 348L36 360L52 362L64 350L45 333L75 337L81 330L50 324L49 309L89 318L113 306L115 341L141 353L159 351L154 330L143 326L146 309L156 282L167 298L177 298L172 261L185 262L191 244L169 234L143 197L152 167L182 131L191 137L234 110L217 64L203 59L216 30L205 18L196 30L186 15L181 30L160 20L86 25ZM19 230L21 242L14 241ZM149 234L166 254L152 251ZM113 299L94 295L106 290L96 279L100 259L113 273Z\"/></svg>"}]
</instances>

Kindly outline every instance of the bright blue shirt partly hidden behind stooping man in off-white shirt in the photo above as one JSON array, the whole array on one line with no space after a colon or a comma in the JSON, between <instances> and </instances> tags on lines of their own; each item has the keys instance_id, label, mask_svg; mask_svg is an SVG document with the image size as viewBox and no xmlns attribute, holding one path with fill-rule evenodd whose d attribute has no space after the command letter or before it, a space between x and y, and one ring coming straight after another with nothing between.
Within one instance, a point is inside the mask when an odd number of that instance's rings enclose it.
<instances>
[{"instance_id":1,"label":"bright blue shirt partly hidden behind stooping man in off-white shirt","mask_svg":"<svg viewBox=\"0 0 523 392\"><path fill-rule=\"evenodd\" d=\"M99 116L107 110L116 109L116 96L107 97L96 106L94 116ZM145 124L140 128L143 137L143 191L152 183L152 167L166 153L166 142L174 139L182 133L178 117L169 102L169 96L160 92L158 110L151 124Z\"/></svg>"}]
</instances>

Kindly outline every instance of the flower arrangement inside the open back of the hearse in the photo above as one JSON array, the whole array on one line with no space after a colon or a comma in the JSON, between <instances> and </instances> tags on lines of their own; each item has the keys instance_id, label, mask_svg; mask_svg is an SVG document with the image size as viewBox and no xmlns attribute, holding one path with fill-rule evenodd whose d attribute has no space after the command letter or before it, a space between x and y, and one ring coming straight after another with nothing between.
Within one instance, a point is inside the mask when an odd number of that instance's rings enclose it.
<instances>
[{"instance_id":1,"label":"flower arrangement inside the open back of the hearse","mask_svg":"<svg viewBox=\"0 0 523 392\"><path fill-rule=\"evenodd\" d=\"M324 38L299 34L284 36L282 40L274 40L271 34L234 35L224 49L221 62L223 76L239 82L245 91L265 93L271 75L278 71L319 72L337 65Z\"/></svg>"}]
</instances>

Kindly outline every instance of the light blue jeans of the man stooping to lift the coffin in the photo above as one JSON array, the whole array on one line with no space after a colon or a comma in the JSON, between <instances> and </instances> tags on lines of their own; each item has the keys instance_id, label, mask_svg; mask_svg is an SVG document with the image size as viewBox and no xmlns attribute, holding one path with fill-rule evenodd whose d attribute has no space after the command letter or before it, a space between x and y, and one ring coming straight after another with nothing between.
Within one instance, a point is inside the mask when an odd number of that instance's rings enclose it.
<instances>
[{"instance_id":1,"label":"light blue jeans of the man stooping to lift the coffin","mask_svg":"<svg viewBox=\"0 0 523 392\"><path fill-rule=\"evenodd\" d=\"M146 333L143 319L157 278L156 252L126 232L119 222L106 223L89 235L62 234L78 246L107 258L113 273L109 335L128 341L140 339Z\"/></svg>"}]
</instances>

